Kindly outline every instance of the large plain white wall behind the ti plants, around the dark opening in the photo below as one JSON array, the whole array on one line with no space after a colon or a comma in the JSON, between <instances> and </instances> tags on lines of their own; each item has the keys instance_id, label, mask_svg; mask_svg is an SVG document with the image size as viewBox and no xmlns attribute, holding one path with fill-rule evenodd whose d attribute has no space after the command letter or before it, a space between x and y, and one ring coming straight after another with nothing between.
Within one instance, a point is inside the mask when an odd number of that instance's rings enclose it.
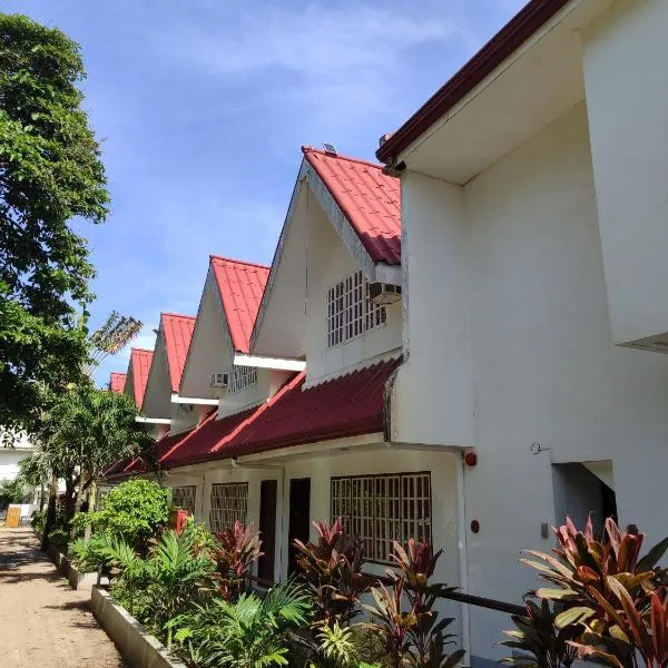
<instances>
[{"instance_id":1,"label":"large plain white wall behind the ti plants, around the dark opening","mask_svg":"<svg viewBox=\"0 0 668 668\"><path fill-rule=\"evenodd\" d=\"M463 240L451 230L451 186L441 186L444 230L432 224L433 193L421 208L423 178L402 177L402 186L411 214L411 384L397 387L393 420L405 415L402 402L425 402L431 410L418 412L418 421L400 422L402 438L441 433L452 444L455 432L471 443L470 425L450 405L471 405L466 365L439 351L441 341L458 350L452 342L468 317L470 353L460 350L464 361L471 355L479 463L464 477L465 515L480 522L480 532L466 537L471 592L519 601L536 584L518 554L551 544L540 527L556 521L552 462L612 460L620 520L637 522L650 542L662 538L656 499L665 494L668 465L668 358L610 340L584 106L468 184ZM455 249L468 269L463 282L446 262ZM453 310L462 283L468 307ZM532 454L532 443L542 451ZM473 654L502 656L493 645L503 628L504 615L471 608Z\"/></svg>"}]
</instances>

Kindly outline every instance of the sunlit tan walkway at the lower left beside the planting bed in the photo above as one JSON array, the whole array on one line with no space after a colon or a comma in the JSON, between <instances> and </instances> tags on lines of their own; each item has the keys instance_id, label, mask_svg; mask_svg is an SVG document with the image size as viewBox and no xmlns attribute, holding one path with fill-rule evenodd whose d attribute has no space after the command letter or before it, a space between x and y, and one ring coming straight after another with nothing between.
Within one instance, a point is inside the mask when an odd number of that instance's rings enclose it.
<instances>
[{"instance_id":1,"label":"sunlit tan walkway at the lower left beside the planting bed","mask_svg":"<svg viewBox=\"0 0 668 668\"><path fill-rule=\"evenodd\" d=\"M31 529L0 528L2 668L127 668L89 599L39 551Z\"/></svg>"}]
</instances>

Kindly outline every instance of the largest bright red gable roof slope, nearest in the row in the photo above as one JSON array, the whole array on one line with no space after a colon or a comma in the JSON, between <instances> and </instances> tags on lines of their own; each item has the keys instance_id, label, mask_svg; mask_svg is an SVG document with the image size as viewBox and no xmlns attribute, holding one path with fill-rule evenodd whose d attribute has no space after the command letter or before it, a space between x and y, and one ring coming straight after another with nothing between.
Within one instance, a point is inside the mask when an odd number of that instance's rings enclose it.
<instances>
[{"instance_id":1,"label":"largest bright red gable roof slope, nearest in the row","mask_svg":"<svg viewBox=\"0 0 668 668\"><path fill-rule=\"evenodd\" d=\"M401 194L399 179L382 165L305 146L304 157L334 197L375 262L401 264Z\"/></svg>"}]
</instances>

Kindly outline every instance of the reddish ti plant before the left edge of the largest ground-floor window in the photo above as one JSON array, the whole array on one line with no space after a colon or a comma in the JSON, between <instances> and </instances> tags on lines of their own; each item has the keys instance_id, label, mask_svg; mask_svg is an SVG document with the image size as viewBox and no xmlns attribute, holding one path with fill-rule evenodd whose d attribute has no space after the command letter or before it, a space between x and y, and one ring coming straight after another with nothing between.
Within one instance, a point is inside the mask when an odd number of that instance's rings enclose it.
<instances>
[{"instance_id":1,"label":"reddish ti plant before the left edge of the largest ground-floor window","mask_svg":"<svg viewBox=\"0 0 668 668\"><path fill-rule=\"evenodd\" d=\"M369 590L370 578L362 573L362 542L345 532L341 518L330 527L314 520L317 542L295 540L297 566L308 582L315 620L330 628L346 626L358 613L360 597Z\"/></svg>"}]
</instances>

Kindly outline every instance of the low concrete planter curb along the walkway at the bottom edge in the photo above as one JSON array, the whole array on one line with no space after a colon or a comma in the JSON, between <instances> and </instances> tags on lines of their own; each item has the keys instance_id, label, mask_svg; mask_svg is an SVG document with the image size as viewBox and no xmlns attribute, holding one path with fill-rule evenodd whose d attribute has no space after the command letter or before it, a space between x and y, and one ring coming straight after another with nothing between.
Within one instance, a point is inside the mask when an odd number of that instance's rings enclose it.
<instances>
[{"instance_id":1,"label":"low concrete planter curb along the walkway at the bottom edge","mask_svg":"<svg viewBox=\"0 0 668 668\"><path fill-rule=\"evenodd\" d=\"M120 654L132 668L186 668L170 658L166 647L146 629L114 597L94 587L90 607L95 618L116 642Z\"/></svg>"}]
</instances>

